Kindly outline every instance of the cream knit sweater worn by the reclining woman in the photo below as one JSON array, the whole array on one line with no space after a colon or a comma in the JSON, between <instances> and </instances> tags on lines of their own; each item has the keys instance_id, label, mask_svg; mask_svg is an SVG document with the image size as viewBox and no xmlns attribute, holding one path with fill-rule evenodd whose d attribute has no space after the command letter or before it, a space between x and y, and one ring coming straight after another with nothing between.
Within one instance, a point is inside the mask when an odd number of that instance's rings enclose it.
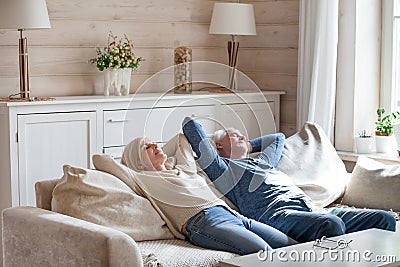
<instances>
[{"instance_id":1,"label":"cream knit sweater worn by the reclining woman","mask_svg":"<svg viewBox=\"0 0 400 267\"><path fill-rule=\"evenodd\" d=\"M136 169L132 153L138 153L139 142L126 146L122 163ZM207 183L207 178L197 171L190 144L183 134L176 135L163 151L176 160L175 167L167 171L132 172L135 182L165 220L175 237L184 239L182 227L194 215L205 208L227 204L221 195ZM135 155L136 155L135 154ZM209 181L209 180L208 180ZM219 195L219 196L218 196Z\"/></svg>"}]
</instances>

